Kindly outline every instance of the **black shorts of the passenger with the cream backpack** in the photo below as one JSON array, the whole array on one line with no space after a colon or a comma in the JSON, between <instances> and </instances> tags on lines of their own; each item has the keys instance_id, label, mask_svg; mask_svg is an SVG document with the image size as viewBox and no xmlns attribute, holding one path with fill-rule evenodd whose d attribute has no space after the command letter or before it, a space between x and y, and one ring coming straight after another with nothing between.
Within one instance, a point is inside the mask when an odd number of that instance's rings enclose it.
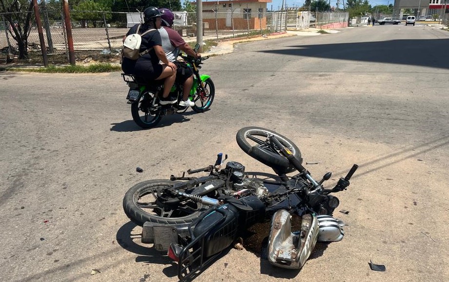
<instances>
[{"instance_id":1,"label":"black shorts of the passenger with the cream backpack","mask_svg":"<svg viewBox=\"0 0 449 282\"><path fill-rule=\"evenodd\" d=\"M125 73L134 74L145 80L155 80L163 70L162 65L153 64L151 60L144 58L139 58L136 61L123 58L121 69Z\"/></svg>"}]
</instances>

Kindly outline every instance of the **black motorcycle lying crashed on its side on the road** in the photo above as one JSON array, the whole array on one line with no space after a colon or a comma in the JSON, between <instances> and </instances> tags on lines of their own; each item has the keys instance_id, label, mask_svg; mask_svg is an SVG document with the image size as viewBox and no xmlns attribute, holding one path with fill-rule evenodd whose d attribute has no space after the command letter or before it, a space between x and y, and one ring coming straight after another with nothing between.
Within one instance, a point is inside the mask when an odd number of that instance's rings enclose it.
<instances>
[{"instance_id":1,"label":"black motorcycle lying crashed on its side on the road","mask_svg":"<svg viewBox=\"0 0 449 282\"><path fill-rule=\"evenodd\" d=\"M178 263L180 281L190 280L232 245L247 228L271 220L268 260L299 269L316 242L343 238L344 224L332 217L339 205L331 193L349 186L353 165L334 188L312 178L302 166L298 147L265 128L237 132L240 148L273 168L276 175L245 172L245 166L218 154L215 164L188 170L188 176L149 180L133 186L123 199L127 216L142 226L142 243L152 243ZM287 176L297 171L296 175ZM208 173L191 177L192 174Z\"/></svg>"}]
</instances>

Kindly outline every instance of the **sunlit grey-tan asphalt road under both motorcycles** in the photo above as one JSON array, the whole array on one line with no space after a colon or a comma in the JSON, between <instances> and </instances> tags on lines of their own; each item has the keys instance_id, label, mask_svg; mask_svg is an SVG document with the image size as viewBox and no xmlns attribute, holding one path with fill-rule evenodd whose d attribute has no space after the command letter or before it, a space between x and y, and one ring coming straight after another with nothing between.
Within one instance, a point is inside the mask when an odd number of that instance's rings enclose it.
<instances>
[{"instance_id":1,"label":"sunlit grey-tan asphalt road under both motorcycles","mask_svg":"<svg viewBox=\"0 0 449 282\"><path fill-rule=\"evenodd\" d=\"M177 281L139 244L123 195L218 152L271 172L236 144L244 126L295 141L318 163L312 176L333 172L328 187L360 166L338 194L346 235L299 272L231 249L195 281L448 281L448 43L427 26L376 25L238 44L201 70L215 82L210 111L149 130L119 72L0 72L0 281Z\"/></svg>"}]
</instances>

